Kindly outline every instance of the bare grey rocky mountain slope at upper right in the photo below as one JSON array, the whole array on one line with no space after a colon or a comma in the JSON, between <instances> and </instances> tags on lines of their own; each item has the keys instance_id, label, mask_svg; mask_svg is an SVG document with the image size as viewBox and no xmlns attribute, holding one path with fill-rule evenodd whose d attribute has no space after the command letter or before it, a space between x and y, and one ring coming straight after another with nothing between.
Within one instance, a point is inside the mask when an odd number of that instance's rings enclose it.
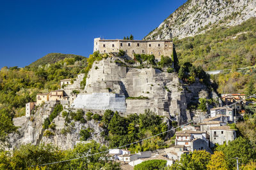
<instances>
[{"instance_id":1,"label":"bare grey rocky mountain slope at upper right","mask_svg":"<svg viewBox=\"0 0 256 170\"><path fill-rule=\"evenodd\" d=\"M251 17L256 17L256 0L188 0L144 39L185 38Z\"/></svg>"}]
</instances>

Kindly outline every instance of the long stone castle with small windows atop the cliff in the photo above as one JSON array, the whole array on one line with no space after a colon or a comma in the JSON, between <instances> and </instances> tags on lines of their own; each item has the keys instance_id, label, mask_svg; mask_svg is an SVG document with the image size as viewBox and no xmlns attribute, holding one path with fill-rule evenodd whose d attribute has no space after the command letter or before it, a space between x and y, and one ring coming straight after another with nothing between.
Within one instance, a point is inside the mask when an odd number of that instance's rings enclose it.
<instances>
[{"instance_id":1,"label":"long stone castle with small windows atop the cliff","mask_svg":"<svg viewBox=\"0 0 256 170\"><path fill-rule=\"evenodd\" d=\"M134 58L134 53L140 53L152 54L157 60L161 60L161 55L172 56L173 42L170 40L94 39L93 52L111 53L119 50L124 50L131 59Z\"/></svg>"}]
</instances>

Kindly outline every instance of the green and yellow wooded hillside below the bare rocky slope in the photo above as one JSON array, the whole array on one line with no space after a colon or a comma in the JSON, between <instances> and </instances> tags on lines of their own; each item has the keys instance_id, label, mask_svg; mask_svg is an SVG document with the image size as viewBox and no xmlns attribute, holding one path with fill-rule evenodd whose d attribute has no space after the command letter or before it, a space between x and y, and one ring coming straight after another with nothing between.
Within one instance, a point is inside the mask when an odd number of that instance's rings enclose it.
<instances>
[{"instance_id":1,"label":"green and yellow wooded hillside below the bare rocky slope","mask_svg":"<svg viewBox=\"0 0 256 170\"><path fill-rule=\"evenodd\" d=\"M234 27L216 27L205 34L173 41L180 64L191 62L205 71L233 69L212 76L221 93L246 92L249 80L256 78L254 69L236 71L239 67L255 65L256 18Z\"/></svg>"}]
</instances>

